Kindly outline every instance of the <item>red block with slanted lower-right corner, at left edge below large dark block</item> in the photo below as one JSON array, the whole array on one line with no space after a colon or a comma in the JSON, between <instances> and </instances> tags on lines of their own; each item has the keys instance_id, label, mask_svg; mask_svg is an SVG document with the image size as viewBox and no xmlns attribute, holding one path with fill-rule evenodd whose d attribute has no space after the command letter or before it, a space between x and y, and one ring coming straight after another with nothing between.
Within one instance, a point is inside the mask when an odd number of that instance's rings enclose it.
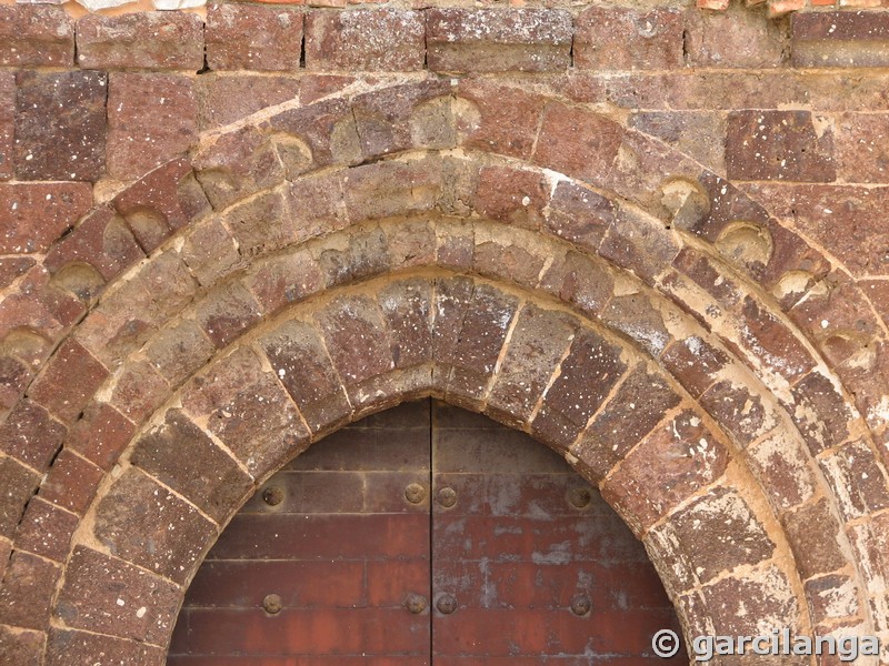
<instances>
[{"instance_id":1,"label":"red block with slanted lower-right corner, at left edge below large dark block","mask_svg":"<svg viewBox=\"0 0 889 666\"><path fill-rule=\"evenodd\" d=\"M46 252L91 206L89 183L0 184L0 252Z\"/></svg>"}]
</instances>

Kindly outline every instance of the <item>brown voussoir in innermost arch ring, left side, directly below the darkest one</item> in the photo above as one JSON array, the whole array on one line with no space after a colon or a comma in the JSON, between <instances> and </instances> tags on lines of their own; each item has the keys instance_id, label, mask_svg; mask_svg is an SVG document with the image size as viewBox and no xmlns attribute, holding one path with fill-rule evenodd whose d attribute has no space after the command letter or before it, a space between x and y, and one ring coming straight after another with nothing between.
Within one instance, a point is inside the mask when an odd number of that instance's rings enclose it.
<instances>
[{"instance_id":1,"label":"brown voussoir in innermost arch ring, left side, directly below the darkest one","mask_svg":"<svg viewBox=\"0 0 889 666\"><path fill-rule=\"evenodd\" d=\"M216 538L217 526L130 467L99 501L93 533L123 559L182 584Z\"/></svg>"}]
</instances>

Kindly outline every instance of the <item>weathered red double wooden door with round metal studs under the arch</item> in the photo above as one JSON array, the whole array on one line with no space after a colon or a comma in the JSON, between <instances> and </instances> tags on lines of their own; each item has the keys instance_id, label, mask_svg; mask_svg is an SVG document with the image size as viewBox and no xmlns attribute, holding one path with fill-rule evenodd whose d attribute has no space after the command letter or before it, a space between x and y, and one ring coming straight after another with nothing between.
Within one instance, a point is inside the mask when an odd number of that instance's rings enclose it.
<instances>
[{"instance_id":1,"label":"weathered red double wooden door with round metal studs under the arch","mask_svg":"<svg viewBox=\"0 0 889 666\"><path fill-rule=\"evenodd\" d=\"M438 403L343 428L276 474L192 582L170 666L682 663L645 549L527 435Z\"/></svg>"}]
</instances>

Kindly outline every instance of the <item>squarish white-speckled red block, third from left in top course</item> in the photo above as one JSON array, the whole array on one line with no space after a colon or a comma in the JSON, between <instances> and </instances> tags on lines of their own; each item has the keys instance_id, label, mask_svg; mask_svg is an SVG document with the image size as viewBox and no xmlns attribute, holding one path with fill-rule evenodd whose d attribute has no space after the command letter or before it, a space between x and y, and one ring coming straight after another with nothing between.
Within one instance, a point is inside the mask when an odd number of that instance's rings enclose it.
<instances>
[{"instance_id":1,"label":"squarish white-speckled red block, third from left in top course","mask_svg":"<svg viewBox=\"0 0 889 666\"><path fill-rule=\"evenodd\" d=\"M212 70L299 69L302 12L254 4L211 4L207 64Z\"/></svg>"}]
</instances>

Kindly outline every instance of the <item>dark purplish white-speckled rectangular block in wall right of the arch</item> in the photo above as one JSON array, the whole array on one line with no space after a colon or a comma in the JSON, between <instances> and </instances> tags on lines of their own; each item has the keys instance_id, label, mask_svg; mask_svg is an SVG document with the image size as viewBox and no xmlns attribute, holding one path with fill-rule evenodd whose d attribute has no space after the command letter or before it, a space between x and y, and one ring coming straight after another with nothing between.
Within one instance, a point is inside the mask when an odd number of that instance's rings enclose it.
<instances>
[{"instance_id":1,"label":"dark purplish white-speckled rectangular block in wall right of the arch","mask_svg":"<svg viewBox=\"0 0 889 666\"><path fill-rule=\"evenodd\" d=\"M818 132L810 111L729 114L726 170L733 180L830 182L837 179L833 134Z\"/></svg>"}]
</instances>

